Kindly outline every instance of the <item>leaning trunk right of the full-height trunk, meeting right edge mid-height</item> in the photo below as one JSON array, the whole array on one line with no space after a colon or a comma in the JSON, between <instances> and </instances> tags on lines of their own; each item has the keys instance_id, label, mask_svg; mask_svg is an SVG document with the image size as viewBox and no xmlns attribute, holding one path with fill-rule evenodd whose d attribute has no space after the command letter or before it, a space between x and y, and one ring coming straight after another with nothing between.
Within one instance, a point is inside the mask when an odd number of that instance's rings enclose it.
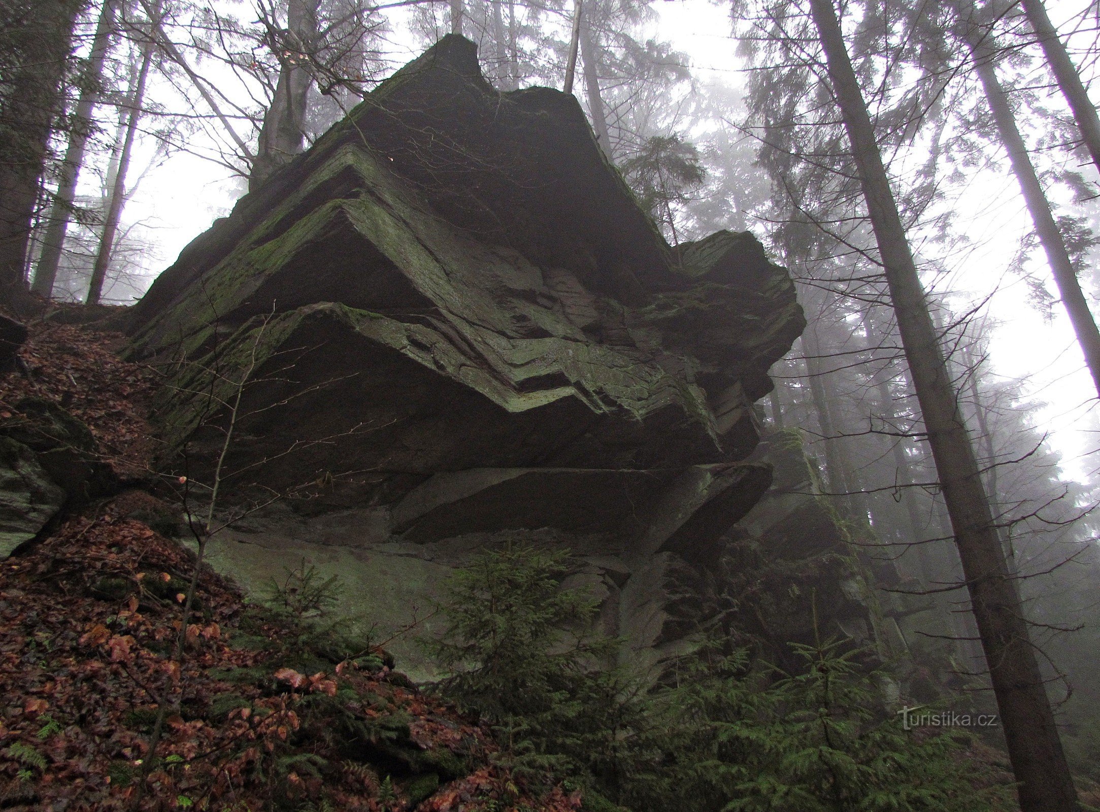
<instances>
[{"instance_id":1,"label":"leaning trunk right of the full-height trunk, meeting right edge mid-height","mask_svg":"<svg viewBox=\"0 0 1100 812\"><path fill-rule=\"evenodd\" d=\"M965 7L963 13L965 13ZM1027 211L1035 224L1035 232L1043 244L1047 263L1054 274L1054 282L1058 286L1062 304L1069 315L1069 322L1074 327L1077 342L1085 353L1085 362L1088 364L1089 372L1092 373L1092 383L1097 387L1097 393L1100 394L1100 330L1097 330L1096 319L1092 318L1088 300L1081 292L1077 272L1069 259L1069 252L1066 251L1065 240L1058 230L1058 224L1054 221L1054 215L1050 213L1050 204L1047 202L1038 176L1035 174L1035 167L1027 155L1027 147L1016 128L1009 98L1004 88L1001 87L1001 83L997 80L994 67L997 44L989 31L982 30L968 20L964 20L963 24L966 26L965 36L974 56L978 78L981 80L990 110L993 112L993 120L997 122L997 131L1001 136L1001 143L1004 144L1004 149L1009 153L1012 173L1020 184L1020 191L1023 194Z\"/></svg>"}]
</instances>

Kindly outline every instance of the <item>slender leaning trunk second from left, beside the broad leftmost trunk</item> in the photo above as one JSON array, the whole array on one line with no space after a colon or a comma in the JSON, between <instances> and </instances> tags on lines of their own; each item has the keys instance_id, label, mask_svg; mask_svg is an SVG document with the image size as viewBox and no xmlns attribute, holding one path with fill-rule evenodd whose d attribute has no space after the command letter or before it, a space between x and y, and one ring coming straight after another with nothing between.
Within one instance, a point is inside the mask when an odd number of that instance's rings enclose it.
<instances>
[{"instance_id":1,"label":"slender leaning trunk second from left, beside the broad leftmost trunk","mask_svg":"<svg viewBox=\"0 0 1100 812\"><path fill-rule=\"evenodd\" d=\"M73 201L76 199L76 184L84 164L85 147L91 135L91 110L99 102L99 87L103 80L103 62L107 57L111 34L114 33L116 1L103 0L103 8L99 12L99 23L96 25L96 34L91 41L91 54L88 57L88 70L85 79L87 85L80 91L74 111L74 130L69 135L65 163L62 164L61 178L57 182L57 194L54 196L54 205L46 223L46 233L42 241L42 255L38 257L38 264L34 271L34 283L31 285L31 289L46 298L50 298L54 292L57 263L61 261L62 249L65 246L65 232L68 230Z\"/></svg>"}]
</instances>

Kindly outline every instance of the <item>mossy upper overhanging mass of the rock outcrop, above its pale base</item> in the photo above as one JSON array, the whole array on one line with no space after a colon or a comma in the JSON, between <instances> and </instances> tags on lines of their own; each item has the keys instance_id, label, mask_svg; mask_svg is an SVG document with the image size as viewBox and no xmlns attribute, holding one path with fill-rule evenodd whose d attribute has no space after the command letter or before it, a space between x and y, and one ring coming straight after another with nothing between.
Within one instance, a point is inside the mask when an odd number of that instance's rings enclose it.
<instances>
[{"instance_id":1,"label":"mossy upper overhanging mass of the rock outcrop, above its pale base","mask_svg":"<svg viewBox=\"0 0 1100 812\"><path fill-rule=\"evenodd\" d=\"M241 484L376 470L354 498L391 501L474 467L740 459L802 326L751 235L673 251L571 96L498 94L444 37L188 246L130 331L191 362L156 413L196 475L228 417L194 393L248 373Z\"/></svg>"}]
</instances>

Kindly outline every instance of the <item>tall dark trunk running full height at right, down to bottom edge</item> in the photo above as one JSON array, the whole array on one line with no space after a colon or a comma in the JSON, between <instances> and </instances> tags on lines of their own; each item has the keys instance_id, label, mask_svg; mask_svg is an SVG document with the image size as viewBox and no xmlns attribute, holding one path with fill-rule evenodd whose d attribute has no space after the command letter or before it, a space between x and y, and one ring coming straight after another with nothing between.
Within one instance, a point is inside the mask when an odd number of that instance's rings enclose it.
<instances>
[{"instance_id":1,"label":"tall dark trunk running full height at right, down to bottom edge","mask_svg":"<svg viewBox=\"0 0 1100 812\"><path fill-rule=\"evenodd\" d=\"M1023 812L1078 812L1023 607L1009 574L974 447L928 314L916 264L848 57L833 0L810 0L833 95L867 201L902 345L921 404L970 593Z\"/></svg>"}]
</instances>

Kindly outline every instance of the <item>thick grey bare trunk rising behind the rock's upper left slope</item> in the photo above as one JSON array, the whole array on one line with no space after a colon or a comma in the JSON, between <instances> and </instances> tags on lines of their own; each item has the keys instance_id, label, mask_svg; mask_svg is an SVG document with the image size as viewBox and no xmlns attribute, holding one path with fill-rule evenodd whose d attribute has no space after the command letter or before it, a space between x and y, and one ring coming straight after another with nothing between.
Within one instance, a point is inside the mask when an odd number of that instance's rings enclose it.
<instances>
[{"instance_id":1,"label":"thick grey bare trunk rising behind the rock's upper left slope","mask_svg":"<svg viewBox=\"0 0 1100 812\"><path fill-rule=\"evenodd\" d=\"M301 152L305 144L306 98L314 83L305 62L317 41L319 6L320 0L290 0L286 42L271 43L279 54L278 81L260 128L256 157L249 175L250 191Z\"/></svg>"}]
</instances>

